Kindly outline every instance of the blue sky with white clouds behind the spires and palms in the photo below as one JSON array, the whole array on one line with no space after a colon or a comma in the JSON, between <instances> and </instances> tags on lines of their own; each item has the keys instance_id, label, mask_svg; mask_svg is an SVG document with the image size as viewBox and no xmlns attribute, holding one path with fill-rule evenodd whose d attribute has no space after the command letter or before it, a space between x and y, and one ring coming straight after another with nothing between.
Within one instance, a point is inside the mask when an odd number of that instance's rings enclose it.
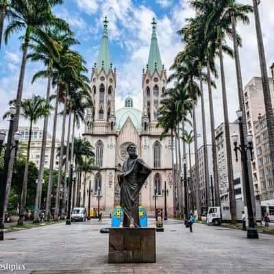
<instances>
[{"instance_id":1,"label":"blue sky with white clouds behind the spires and palms","mask_svg":"<svg viewBox=\"0 0 274 274\"><path fill-rule=\"evenodd\" d=\"M240 3L252 4L251 0L239 0ZM274 62L273 32L274 4L273 0L262 0L259 6L268 68ZM131 95L134 107L142 110L142 69L149 57L151 40L151 21L157 21L157 36L162 63L167 69L173 63L177 52L184 45L177 30L181 29L186 18L194 15L187 0L64 0L64 5L54 8L54 13L64 18L70 25L81 45L75 47L84 56L90 77L92 66L97 62L101 36L103 34L103 18L108 16L108 34L110 55L113 66L117 69L116 109L123 107L124 98ZM253 14L250 14L250 25L238 24L237 30L242 36L243 47L240 49L242 79L246 85L252 77L260 76L258 47ZM8 101L16 97L18 74L21 66L22 52L18 37L11 36L8 45L2 44L0 51L0 116L8 110ZM227 42L231 44L229 40ZM219 61L216 60L219 69ZM47 82L38 80L32 84L32 76L38 70L44 69L40 63L27 63L23 98L38 94L45 97ZM269 70L269 76L271 75ZM225 77L229 104L229 120L236 120L238 95L236 86L236 71L234 60L225 57ZM221 98L221 82L216 79L217 88L213 90L215 127L223 122L223 107ZM172 84L169 86L171 87ZM210 114L208 105L208 90L205 86L206 122L210 132ZM60 106L60 108L62 108ZM201 107L197 106L198 133L201 131ZM20 125L28 122L21 119ZM42 129L42 121L37 125ZM60 119L58 126L61 125ZM49 122L49 132L52 130L52 118ZM8 121L0 118L0 129L7 128ZM77 129L77 135L83 132L84 126ZM210 143L210 134L208 134ZM60 138L60 132L58 132ZM202 138L198 139L201 145Z\"/></svg>"}]
</instances>

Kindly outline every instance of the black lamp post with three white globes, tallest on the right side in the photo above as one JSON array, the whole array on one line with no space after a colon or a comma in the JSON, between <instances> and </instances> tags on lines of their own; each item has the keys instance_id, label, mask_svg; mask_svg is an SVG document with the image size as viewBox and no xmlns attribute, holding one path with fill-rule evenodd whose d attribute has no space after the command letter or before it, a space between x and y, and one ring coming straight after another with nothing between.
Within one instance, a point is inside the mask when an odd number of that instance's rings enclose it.
<instances>
[{"instance_id":1,"label":"black lamp post with three white globes, tallest on the right side","mask_svg":"<svg viewBox=\"0 0 274 274\"><path fill-rule=\"evenodd\" d=\"M242 171L243 171L243 178L245 182L245 195L247 199L247 214L249 220L249 229L247 229L247 238L259 238L258 231L255 228L255 222L253 217L253 208L252 208L252 201L251 201L251 191L250 191L250 182L249 182L249 175L247 169L247 151L250 152L251 160L252 160L252 139L253 136L251 133L247 134L247 144L245 145L245 137L242 129L242 110L236 111L238 117L238 124L240 130L240 145L237 144L238 142L238 135L234 133L232 136L232 141L234 143L234 151L236 155L236 162L238 162L238 151L240 151L241 159L242 159Z\"/></svg>"}]
</instances>

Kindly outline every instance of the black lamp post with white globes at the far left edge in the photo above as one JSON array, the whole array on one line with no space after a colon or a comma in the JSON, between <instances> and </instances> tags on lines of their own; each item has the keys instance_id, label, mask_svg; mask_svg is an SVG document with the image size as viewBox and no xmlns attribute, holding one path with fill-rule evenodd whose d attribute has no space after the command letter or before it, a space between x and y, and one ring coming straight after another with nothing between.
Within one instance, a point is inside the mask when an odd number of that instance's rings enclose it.
<instances>
[{"instance_id":1,"label":"black lamp post with white globes at the far left edge","mask_svg":"<svg viewBox=\"0 0 274 274\"><path fill-rule=\"evenodd\" d=\"M8 141L5 147L5 158L4 158L4 168L3 174L1 175L1 186L0 186L0 240L4 239L3 235L3 227L4 227L4 203L5 203L5 188L7 187L7 177L8 177L8 166L10 162L10 153L12 149L16 146L12 146L12 132L13 132L13 125L14 125L14 115L16 114L16 108L14 106L10 107L10 127L8 131ZM20 134L16 132L14 134L14 140L16 144L20 139ZM3 142L1 147L3 146Z\"/></svg>"}]
</instances>

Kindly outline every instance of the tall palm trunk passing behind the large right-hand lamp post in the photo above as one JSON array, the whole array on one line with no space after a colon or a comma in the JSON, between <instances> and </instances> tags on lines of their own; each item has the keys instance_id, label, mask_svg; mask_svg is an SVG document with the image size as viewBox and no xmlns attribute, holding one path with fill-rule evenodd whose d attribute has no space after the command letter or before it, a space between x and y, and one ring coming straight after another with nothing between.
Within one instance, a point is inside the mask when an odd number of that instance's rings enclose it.
<instances>
[{"instance_id":1,"label":"tall palm trunk passing behind the large right-hand lamp post","mask_svg":"<svg viewBox=\"0 0 274 274\"><path fill-rule=\"evenodd\" d=\"M247 144L247 116L245 112L245 99L244 99L244 91L242 88L242 71L240 68L240 55L238 50L238 42L237 42L237 36L236 36L236 21L233 10L230 12L230 18L232 21L232 37L233 37L233 45L234 45L234 57L235 57L235 65L236 65L236 75L237 75L237 86L238 86L238 99L239 99L239 105L240 109L242 110L242 129L243 134L245 138L245 144ZM249 184L250 186L253 186L253 179L252 179L252 169L251 169L251 161L250 161L250 155L247 153L247 169L249 172ZM242 169L243 171L243 169ZM243 175L243 174L242 174ZM242 176L242 186L243 189L245 189L245 180L244 176ZM255 206L255 197L254 197L254 190L253 187L250 187L251 192L251 200L252 200L252 207L253 207L253 214L256 216L256 206ZM247 197L245 195L244 191L244 201L245 205L247 203Z\"/></svg>"}]
</instances>

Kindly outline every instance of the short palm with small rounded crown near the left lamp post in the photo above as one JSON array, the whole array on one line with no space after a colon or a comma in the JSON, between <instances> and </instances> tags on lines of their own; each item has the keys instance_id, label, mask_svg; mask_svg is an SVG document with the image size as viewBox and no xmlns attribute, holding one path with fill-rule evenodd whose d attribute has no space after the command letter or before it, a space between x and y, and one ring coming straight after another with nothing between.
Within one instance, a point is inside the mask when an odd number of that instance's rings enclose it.
<instances>
[{"instance_id":1,"label":"short palm with small rounded crown near the left lamp post","mask_svg":"<svg viewBox=\"0 0 274 274\"><path fill-rule=\"evenodd\" d=\"M15 103L15 100L11 101L12 104ZM29 173L29 153L30 153L30 144L32 141L32 127L33 124L41 119L42 117L49 116L51 110L51 105L47 99L43 99L39 95L33 95L31 99L24 99L21 103L21 116L24 119L29 120L29 139L27 141L27 157L25 163L25 171L23 177L23 187L20 201L20 211L18 224L23 224L23 215L25 213L25 203L27 199L27 176ZM5 114L6 116L7 114Z\"/></svg>"}]
</instances>

